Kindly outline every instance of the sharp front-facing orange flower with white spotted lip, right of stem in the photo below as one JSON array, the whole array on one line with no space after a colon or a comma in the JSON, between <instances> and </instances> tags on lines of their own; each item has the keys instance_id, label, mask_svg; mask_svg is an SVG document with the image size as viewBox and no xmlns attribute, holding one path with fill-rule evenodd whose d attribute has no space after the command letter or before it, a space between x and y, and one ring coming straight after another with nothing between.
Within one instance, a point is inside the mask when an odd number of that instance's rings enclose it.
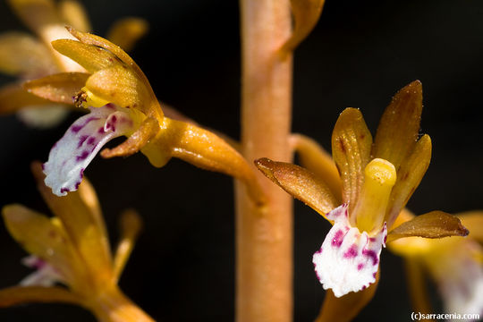
<instances>
[{"instance_id":1,"label":"sharp front-facing orange flower with white spotted lip, right of stem","mask_svg":"<svg viewBox=\"0 0 483 322\"><path fill-rule=\"evenodd\" d=\"M360 111L343 111L332 136L342 193L298 165L267 158L255 162L273 182L333 224L313 263L320 283L335 297L375 283L382 248L401 234L436 238L468 233L456 217L441 211L418 216L417 228L401 225L401 231L391 232L429 165L431 140L428 135L418 140L421 109L421 85L414 81L386 108L374 142Z\"/></svg>"}]
</instances>

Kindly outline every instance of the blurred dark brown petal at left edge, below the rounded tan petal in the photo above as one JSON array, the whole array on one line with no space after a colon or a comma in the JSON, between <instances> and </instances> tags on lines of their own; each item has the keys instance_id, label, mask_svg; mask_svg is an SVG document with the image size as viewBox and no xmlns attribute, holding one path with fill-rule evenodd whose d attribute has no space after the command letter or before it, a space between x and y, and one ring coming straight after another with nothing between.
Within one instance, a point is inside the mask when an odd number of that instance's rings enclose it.
<instances>
[{"instance_id":1,"label":"blurred dark brown petal at left edge, below the rounded tan petal","mask_svg":"<svg viewBox=\"0 0 483 322\"><path fill-rule=\"evenodd\" d=\"M36 97L20 84L10 84L0 88L0 114L11 114L25 106L52 106L52 102Z\"/></svg>"}]
</instances>

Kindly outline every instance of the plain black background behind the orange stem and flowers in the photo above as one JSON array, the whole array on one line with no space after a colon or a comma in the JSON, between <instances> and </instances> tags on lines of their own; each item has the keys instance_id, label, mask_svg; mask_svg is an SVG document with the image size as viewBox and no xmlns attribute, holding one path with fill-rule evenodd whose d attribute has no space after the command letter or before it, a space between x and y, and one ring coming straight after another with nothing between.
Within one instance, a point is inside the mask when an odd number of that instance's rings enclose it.
<instances>
[{"instance_id":1,"label":"plain black background behind the orange stem and flowers","mask_svg":"<svg viewBox=\"0 0 483 322\"><path fill-rule=\"evenodd\" d=\"M151 25L131 56L157 97L210 128L239 137L240 38L236 1L84 1L97 34L117 18L136 15ZM0 4L0 32L21 30ZM394 93L421 80L421 132L433 140L428 173L409 202L420 214L482 208L483 3L327 0L317 28L294 57L293 131L330 148L338 114L360 107L374 133ZM0 82L12 80L0 77ZM0 119L0 205L18 202L47 212L29 172L79 115L54 130L28 129L14 116ZM138 154L96 157L86 171L94 183L111 240L117 218L136 208L145 229L121 287L160 321L230 321L234 297L232 180L179 160L157 169ZM294 217L294 320L316 317L324 291L311 256L329 224L300 202ZM0 225L0 287L30 273L25 256ZM357 320L407 321L411 306L402 260L382 254L374 301ZM433 290L434 292L434 290ZM436 312L441 302L434 296ZM89 321L69 305L33 304L0 310L2 321Z\"/></svg>"}]
</instances>

